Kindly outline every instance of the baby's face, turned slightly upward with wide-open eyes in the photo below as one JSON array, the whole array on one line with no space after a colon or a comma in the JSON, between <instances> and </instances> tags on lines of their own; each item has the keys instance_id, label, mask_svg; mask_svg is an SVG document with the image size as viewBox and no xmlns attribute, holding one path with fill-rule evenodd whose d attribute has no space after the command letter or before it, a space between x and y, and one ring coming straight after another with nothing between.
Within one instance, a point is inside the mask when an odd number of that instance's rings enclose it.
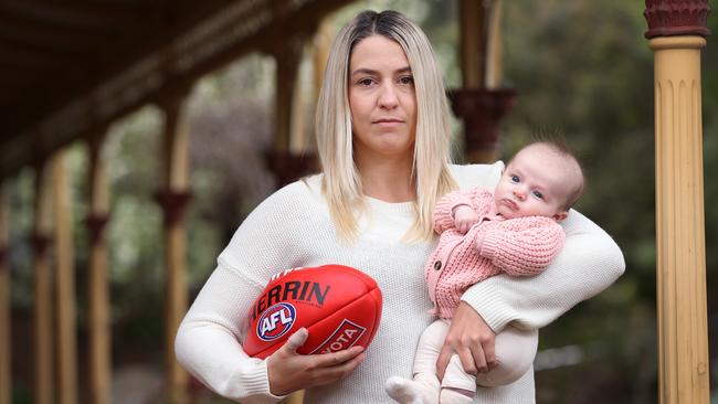
<instances>
[{"instance_id":1,"label":"baby's face, turned slightly upward with wide-open eyes","mask_svg":"<svg viewBox=\"0 0 718 404\"><path fill-rule=\"evenodd\" d=\"M563 220L570 170L566 158L543 145L529 146L511 160L494 192L498 213L506 219L547 216Z\"/></svg>"}]
</instances>

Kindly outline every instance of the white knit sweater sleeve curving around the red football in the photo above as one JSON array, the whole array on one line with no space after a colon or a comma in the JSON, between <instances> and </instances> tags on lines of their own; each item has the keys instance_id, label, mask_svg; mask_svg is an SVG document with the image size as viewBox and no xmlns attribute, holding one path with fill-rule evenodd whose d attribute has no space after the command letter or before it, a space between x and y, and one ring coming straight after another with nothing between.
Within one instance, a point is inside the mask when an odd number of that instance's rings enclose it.
<instances>
[{"instance_id":1,"label":"white knit sweater sleeve curving around the red football","mask_svg":"<svg viewBox=\"0 0 718 404\"><path fill-rule=\"evenodd\" d=\"M300 183L292 185L302 187ZM282 225L292 199L281 190L239 227L179 327L179 362L212 391L242 403L276 403L266 361L247 357L241 338L247 313L268 274L293 267L292 235Z\"/></svg>"}]
</instances>

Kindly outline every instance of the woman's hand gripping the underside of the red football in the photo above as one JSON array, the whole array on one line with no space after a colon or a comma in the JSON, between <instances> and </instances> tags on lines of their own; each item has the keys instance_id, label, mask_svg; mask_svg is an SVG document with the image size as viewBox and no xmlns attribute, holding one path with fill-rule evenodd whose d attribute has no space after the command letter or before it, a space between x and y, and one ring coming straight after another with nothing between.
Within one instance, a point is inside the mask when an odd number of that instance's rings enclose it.
<instances>
[{"instance_id":1,"label":"woman's hand gripping the underside of the red football","mask_svg":"<svg viewBox=\"0 0 718 404\"><path fill-rule=\"evenodd\" d=\"M307 337L307 329L300 328L266 359L272 394L286 395L297 390L336 382L353 372L366 358L363 347L351 347L332 353L297 353Z\"/></svg>"}]
</instances>

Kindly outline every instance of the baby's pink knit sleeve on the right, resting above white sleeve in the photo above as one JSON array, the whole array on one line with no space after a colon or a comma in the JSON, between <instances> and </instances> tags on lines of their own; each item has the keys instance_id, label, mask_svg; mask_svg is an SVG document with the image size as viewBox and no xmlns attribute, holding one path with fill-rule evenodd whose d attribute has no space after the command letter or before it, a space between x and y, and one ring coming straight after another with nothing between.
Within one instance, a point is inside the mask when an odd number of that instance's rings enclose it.
<instances>
[{"instance_id":1,"label":"baby's pink knit sleeve on the right, resting above white sleeve","mask_svg":"<svg viewBox=\"0 0 718 404\"><path fill-rule=\"evenodd\" d=\"M550 217L498 222L482 240L479 254L513 276L541 273L563 247L563 228Z\"/></svg>"}]
</instances>

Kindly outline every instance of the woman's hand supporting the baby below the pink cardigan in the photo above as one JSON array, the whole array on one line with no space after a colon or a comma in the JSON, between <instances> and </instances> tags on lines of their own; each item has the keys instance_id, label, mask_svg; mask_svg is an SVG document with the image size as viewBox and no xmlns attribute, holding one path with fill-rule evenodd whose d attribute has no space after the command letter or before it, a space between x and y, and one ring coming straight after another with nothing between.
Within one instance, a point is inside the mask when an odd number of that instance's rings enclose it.
<instances>
[{"instance_id":1,"label":"woman's hand supporting the baby below the pink cardigan","mask_svg":"<svg viewBox=\"0 0 718 404\"><path fill-rule=\"evenodd\" d=\"M454 352L458 355L464 371L476 375L496 368L494 351L496 333L473 307L461 301L451 321L444 345L436 360L436 375L444 379L444 372Z\"/></svg>"}]
</instances>

